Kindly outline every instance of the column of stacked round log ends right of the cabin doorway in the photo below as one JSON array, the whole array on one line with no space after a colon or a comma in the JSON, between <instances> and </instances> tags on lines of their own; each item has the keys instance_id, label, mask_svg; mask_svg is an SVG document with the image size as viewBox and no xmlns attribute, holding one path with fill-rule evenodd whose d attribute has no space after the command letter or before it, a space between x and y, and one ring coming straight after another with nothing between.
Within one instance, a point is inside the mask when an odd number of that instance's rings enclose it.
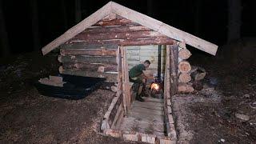
<instances>
[{"instance_id":1,"label":"column of stacked round log ends right of the cabin doorway","mask_svg":"<svg viewBox=\"0 0 256 144\"><path fill-rule=\"evenodd\" d=\"M198 66L191 66L187 61L192 54L186 49L185 42L178 42L178 92L190 93L194 91L193 83L206 76L206 70Z\"/></svg>"}]
</instances>

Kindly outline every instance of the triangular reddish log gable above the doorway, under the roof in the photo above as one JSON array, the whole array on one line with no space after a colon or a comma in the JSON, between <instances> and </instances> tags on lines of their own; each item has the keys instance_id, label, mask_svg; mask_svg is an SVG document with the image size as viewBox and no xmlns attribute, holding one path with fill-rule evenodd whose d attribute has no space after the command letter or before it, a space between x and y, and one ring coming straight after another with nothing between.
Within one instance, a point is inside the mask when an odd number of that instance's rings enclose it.
<instances>
[{"instance_id":1,"label":"triangular reddish log gable above the doorway, under the roof","mask_svg":"<svg viewBox=\"0 0 256 144\"><path fill-rule=\"evenodd\" d=\"M120 46L174 44L172 38L119 16L111 16L111 18L97 22L70 39L68 43L72 42L104 45L115 43Z\"/></svg>"}]
</instances>

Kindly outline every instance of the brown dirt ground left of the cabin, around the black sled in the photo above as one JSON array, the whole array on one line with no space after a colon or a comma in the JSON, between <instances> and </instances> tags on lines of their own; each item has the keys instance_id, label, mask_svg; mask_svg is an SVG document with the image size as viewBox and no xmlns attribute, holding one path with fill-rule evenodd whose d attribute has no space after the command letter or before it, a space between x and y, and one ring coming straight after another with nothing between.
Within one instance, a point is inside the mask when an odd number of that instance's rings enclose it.
<instances>
[{"instance_id":1,"label":"brown dirt ground left of the cabin, around the black sled","mask_svg":"<svg viewBox=\"0 0 256 144\"><path fill-rule=\"evenodd\" d=\"M98 133L114 93L81 100L38 94L33 82L57 74L56 55L20 54L0 65L0 143L134 143Z\"/></svg>"}]
</instances>

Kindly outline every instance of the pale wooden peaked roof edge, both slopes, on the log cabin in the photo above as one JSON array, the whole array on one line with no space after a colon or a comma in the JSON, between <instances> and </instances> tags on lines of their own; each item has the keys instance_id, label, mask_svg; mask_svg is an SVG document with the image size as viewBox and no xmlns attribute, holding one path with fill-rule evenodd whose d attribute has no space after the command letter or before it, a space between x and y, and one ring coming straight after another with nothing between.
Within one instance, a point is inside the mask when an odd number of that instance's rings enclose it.
<instances>
[{"instance_id":1,"label":"pale wooden peaked roof edge, both slopes, on the log cabin","mask_svg":"<svg viewBox=\"0 0 256 144\"><path fill-rule=\"evenodd\" d=\"M88 27L94 25L96 22L100 21L102 18L105 18L109 14L117 14L123 18L127 18L133 22L137 22L142 26L146 26L152 30L157 31L160 34L164 34L169 38L175 40L186 42L186 44L193 46L199 50L205 51L206 53L215 55L218 46L213 43L207 42L202 38L198 38L192 34L188 34L182 30L178 30L173 26L169 26L166 23L160 22L154 18L150 18L145 14L141 14L135 10L131 10L125 6L121 6L116 2L108 2L101 9L91 14L86 19L79 22L77 25L67 30L60 37L54 39L53 42L50 42L42 48L42 54L48 54L51 50L54 50L56 47L62 45L62 43L67 42L75 35L81 33L83 30L86 30Z\"/></svg>"}]
</instances>

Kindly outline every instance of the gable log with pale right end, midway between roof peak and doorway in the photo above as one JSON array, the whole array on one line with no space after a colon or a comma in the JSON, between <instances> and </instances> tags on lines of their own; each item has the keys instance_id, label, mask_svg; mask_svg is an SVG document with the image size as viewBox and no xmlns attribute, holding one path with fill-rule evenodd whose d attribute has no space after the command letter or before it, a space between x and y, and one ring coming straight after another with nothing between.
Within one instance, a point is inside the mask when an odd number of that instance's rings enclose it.
<instances>
[{"instance_id":1,"label":"gable log with pale right end, midway between roof peak and doorway","mask_svg":"<svg viewBox=\"0 0 256 144\"><path fill-rule=\"evenodd\" d=\"M150 31L146 26L97 26L88 28L80 34L106 34L106 33L126 33L130 31Z\"/></svg>"}]
</instances>

